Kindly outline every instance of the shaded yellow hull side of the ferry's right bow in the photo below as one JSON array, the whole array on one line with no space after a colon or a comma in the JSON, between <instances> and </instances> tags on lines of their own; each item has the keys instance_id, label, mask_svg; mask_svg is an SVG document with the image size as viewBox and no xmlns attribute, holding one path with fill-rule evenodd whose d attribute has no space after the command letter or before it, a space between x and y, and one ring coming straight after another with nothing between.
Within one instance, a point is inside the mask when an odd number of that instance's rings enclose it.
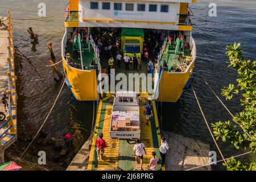
<instances>
[{"instance_id":1,"label":"shaded yellow hull side of the ferry's right bow","mask_svg":"<svg viewBox=\"0 0 256 182\"><path fill-rule=\"evenodd\" d=\"M184 86L190 76L190 72L193 71L194 63L189 67L185 73L168 73L163 72L159 85L159 98L158 101L163 102L177 102L179 100Z\"/></svg>"}]
</instances>

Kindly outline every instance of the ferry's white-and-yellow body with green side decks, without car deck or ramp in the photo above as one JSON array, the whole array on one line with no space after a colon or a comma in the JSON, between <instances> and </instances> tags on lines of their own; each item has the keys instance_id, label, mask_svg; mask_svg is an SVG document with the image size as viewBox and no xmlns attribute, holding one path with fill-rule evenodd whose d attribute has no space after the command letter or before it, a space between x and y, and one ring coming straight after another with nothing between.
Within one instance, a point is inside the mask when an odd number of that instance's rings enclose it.
<instances>
[{"instance_id":1,"label":"ferry's white-and-yellow body with green side decks, without car deck or ramp","mask_svg":"<svg viewBox=\"0 0 256 182\"><path fill-rule=\"evenodd\" d=\"M189 3L195 2L70 0L66 10L62 56L67 85L77 100L97 100L97 76L101 72L101 60L104 57L100 56L92 32L95 28L99 30L110 27L143 28L144 31L158 30L166 34L166 39L161 42L162 48L156 54L158 60L154 71L154 94L159 95L158 100L163 102L176 102L187 84L196 58L195 42L191 34L192 12L189 10ZM179 35L183 35L182 43ZM172 37L172 42L168 42L168 36ZM187 47L184 47L184 43ZM72 57L77 64L69 64L68 57ZM187 65L181 63L187 57L190 57ZM152 96L152 99L156 98Z\"/></svg>"}]
</instances>

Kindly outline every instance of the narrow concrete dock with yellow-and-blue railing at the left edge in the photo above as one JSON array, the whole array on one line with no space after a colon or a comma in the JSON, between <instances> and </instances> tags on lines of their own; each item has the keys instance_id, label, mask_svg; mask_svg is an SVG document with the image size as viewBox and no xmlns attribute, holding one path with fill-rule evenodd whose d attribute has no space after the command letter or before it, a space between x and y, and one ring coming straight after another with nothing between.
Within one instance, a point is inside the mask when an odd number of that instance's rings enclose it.
<instances>
[{"instance_id":1,"label":"narrow concrete dock with yellow-and-blue railing at the left edge","mask_svg":"<svg viewBox=\"0 0 256 182\"><path fill-rule=\"evenodd\" d=\"M9 11L1 11L1 21L5 26L0 27L0 93L7 93L8 107L0 103L0 111L6 119L0 121L0 164L5 163L4 153L17 139L16 125L16 76L14 72L13 27ZM2 99L2 94L1 94Z\"/></svg>"}]
</instances>

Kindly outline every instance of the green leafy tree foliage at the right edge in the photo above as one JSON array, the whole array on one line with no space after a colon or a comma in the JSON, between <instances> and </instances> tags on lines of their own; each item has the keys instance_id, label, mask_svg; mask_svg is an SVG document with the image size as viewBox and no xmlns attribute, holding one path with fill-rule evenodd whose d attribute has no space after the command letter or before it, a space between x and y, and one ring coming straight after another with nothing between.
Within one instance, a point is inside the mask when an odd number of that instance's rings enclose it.
<instances>
[{"instance_id":1,"label":"green leafy tree foliage at the right edge","mask_svg":"<svg viewBox=\"0 0 256 182\"><path fill-rule=\"evenodd\" d=\"M256 61L245 60L240 49L240 43L226 46L226 56L229 58L229 67L237 71L238 79L236 86L229 84L221 90L221 95L230 100L233 96L240 97L243 110L238 112L234 118L235 126L230 121L218 121L212 124L216 139L230 142L237 149L249 148L256 153ZM241 127L242 129L241 129ZM247 134L250 135L250 137ZM256 170L256 160L251 163L242 164L236 159L226 160L224 164L228 170Z\"/></svg>"}]
</instances>

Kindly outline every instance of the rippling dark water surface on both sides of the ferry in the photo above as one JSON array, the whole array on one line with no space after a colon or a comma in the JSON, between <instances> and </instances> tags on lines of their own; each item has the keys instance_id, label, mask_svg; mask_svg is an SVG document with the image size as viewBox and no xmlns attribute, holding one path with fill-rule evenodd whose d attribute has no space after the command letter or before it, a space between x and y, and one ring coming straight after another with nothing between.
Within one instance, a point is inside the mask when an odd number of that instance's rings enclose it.
<instances>
[{"instance_id":1,"label":"rippling dark water surface on both sides of the ferry","mask_svg":"<svg viewBox=\"0 0 256 182\"><path fill-rule=\"evenodd\" d=\"M47 6L47 16L40 20L20 20L22 18L38 18L38 4ZM241 42L245 57L256 57L256 2L254 0L210 1L217 5L217 17L210 17L209 1L199 0L192 5L193 38L196 42L197 59L194 69L197 96L209 123L230 119L230 115L214 98L207 85L197 73L201 73L209 81L214 91L220 96L220 90L229 82L236 82L236 72L227 67L225 46L233 42ZM47 49L48 40L53 42L56 60L61 59L61 38L64 34L64 8L68 1L57 0L1 0L0 9L10 10L14 18L14 43L32 62L47 65L50 60ZM32 27L39 35L39 44L32 46L27 28ZM35 65L35 69L26 61L18 60L18 119L26 123L29 130L36 132L48 114L53 101L61 87L53 80L51 68ZM61 68L62 71L62 68ZM224 100L224 98L222 98ZM225 100L224 100L225 101ZM236 113L241 106L238 100L225 101L225 104ZM56 138L64 132L75 134L82 144L92 127L93 106L73 99L71 91L64 87L55 109L53 110L44 131ZM159 115L160 117L160 115ZM161 120L161 119L160 119ZM183 93L176 104L164 105L162 110L163 129L200 139L210 143L211 150L216 150L203 117L193 97L192 90ZM225 157L241 154L227 143L218 142ZM221 165L213 167L222 169Z\"/></svg>"}]
</instances>

